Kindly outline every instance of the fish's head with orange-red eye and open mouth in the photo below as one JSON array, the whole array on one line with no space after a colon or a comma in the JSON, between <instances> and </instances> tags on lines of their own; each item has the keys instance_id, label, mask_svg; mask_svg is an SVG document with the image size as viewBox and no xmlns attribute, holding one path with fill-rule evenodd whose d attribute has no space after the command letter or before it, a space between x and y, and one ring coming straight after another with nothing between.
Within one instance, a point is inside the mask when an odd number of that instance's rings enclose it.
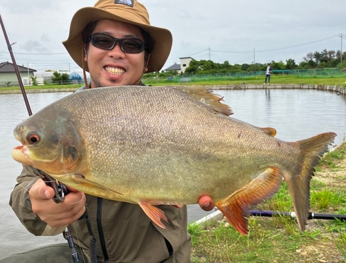
<instances>
[{"instance_id":1,"label":"fish's head with orange-red eye and open mouth","mask_svg":"<svg viewBox=\"0 0 346 263\"><path fill-rule=\"evenodd\" d=\"M12 158L47 174L75 172L82 160L82 139L73 116L52 105L19 123L13 131L22 145Z\"/></svg>"}]
</instances>

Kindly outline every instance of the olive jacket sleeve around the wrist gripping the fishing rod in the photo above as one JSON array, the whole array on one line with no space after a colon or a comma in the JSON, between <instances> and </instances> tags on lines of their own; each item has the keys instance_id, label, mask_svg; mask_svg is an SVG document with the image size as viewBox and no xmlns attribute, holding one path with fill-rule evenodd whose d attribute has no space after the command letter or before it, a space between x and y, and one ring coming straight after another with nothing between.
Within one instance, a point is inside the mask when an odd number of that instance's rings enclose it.
<instances>
[{"instance_id":1,"label":"olive jacket sleeve around the wrist gripping the fishing rod","mask_svg":"<svg viewBox=\"0 0 346 263\"><path fill-rule=\"evenodd\" d=\"M17 185L10 196L10 206L26 229L33 235L57 235L62 228L51 228L34 214L31 208L29 190L39 179L30 166L23 166L21 174L17 177Z\"/></svg>"}]
</instances>

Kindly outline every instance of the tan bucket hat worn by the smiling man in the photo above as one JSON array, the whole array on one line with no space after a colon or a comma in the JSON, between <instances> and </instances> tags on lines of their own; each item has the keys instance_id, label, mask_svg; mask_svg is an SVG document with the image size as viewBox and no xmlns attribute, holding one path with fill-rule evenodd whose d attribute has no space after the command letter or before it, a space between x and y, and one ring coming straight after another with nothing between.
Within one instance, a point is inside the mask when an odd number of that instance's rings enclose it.
<instances>
[{"instance_id":1,"label":"tan bucket hat worn by the smiling man","mask_svg":"<svg viewBox=\"0 0 346 263\"><path fill-rule=\"evenodd\" d=\"M98 19L113 19L143 28L154 39L154 48L149 58L149 72L160 71L172 48L170 30L150 25L147 8L136 0L99 0L93 7L81 8L72 18L69 38L64 44L75 63L83 68L82 31L89 23ZM85 71L89 72L84 63Z\"/></svg>"}]
</instances>

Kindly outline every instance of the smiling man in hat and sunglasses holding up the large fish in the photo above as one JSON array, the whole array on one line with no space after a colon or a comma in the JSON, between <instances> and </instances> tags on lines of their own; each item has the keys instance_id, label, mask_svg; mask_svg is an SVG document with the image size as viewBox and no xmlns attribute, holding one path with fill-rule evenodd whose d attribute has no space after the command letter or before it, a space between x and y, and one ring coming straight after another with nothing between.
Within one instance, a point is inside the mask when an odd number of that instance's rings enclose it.
<instances>
[{"instance_id":1,"label":"smiling man in hat and sunglasses holding up the large fish","mask_svg":"<svg viewBox=\"0 0 346 263\"><path fill-rule=\"evenodd\" d=\"M90 82L80 90L144 86L143 74L160 71L165 64L172 34L151 26L147 9L136 0L100 0L75 13L63 44L83 69L85 82L85 71L90 73ZM33 167L24 165L10 206L33 235L71 234L80 262L91 262L93 257L98 262L190 262L186 206L160 206L169 221L165 230L136 204L69 190L64 202L55 203L53 188L39 179ZM214 203L204 196L199 206L211 210ZM91 255L91 237L96 240L95 255ZM71 250L67 243L42 246L0 262L71 262Z\"/></svg>"}]
</instances>

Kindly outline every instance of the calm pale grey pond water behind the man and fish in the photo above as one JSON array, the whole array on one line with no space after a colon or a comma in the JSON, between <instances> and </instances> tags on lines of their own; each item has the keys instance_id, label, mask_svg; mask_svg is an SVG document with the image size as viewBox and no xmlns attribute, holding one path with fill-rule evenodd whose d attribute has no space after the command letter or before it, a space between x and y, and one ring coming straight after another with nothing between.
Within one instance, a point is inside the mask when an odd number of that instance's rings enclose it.
<instances>
[{"instance_id":1,"label":"calm pale grey pond water behind the man and fish","mask_svg":"<svg viewBox=\"0 0 346 263\"><path fill-rule=\"evenodd\" d=\"M346 96L312 89L218 90L232 107L233 118L258 127L273 127L277 138L286 141L301 140L325 131L334 131L340 144L346 134ZM70 93L28 93L33 113ZM8 199L21 165L12 160L11 149L18 145L13 129L28 113L21 94L0 95L0 259L12 253L37 246L65 242L61 235L35 237L21 225ZM198 205L188 206L188 220L196 221L208 214ZM213 211L211 211L213 212Z\"/></svg>"}]
</instances>

